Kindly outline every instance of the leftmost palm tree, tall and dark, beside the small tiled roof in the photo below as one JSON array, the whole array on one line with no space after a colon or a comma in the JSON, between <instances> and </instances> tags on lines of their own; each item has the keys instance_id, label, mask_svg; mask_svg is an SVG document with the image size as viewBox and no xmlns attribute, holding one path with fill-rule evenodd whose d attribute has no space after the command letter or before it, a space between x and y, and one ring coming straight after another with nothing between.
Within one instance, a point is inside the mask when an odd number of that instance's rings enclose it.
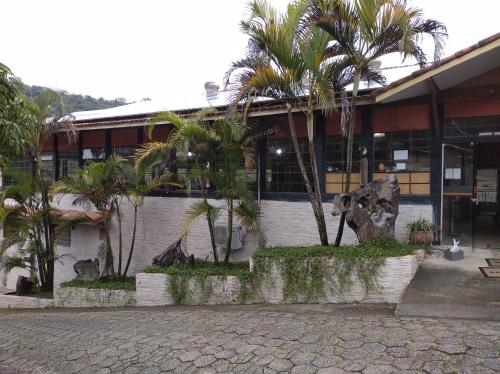
<instances>
[{"instance_id":1,"label":"leftmost palm tree, tall and dark, beside the small tiled roof","mask_svg":"<svg viewBox=\"0 0 500 374\"><path fill-rule=\"evenodd\" d=\"M24 152L33 161L33 173L29 181L26 181L26 176L14 175L18 186L9 188L5 196L12 198L18 207L10 209L6 219L16 220L14 217L21 214L27 220L25 229L13 230L10 239L18 243L29 240L29 245L37 248L40 282L43 288L51 289L57 232L49 194L52 178L43 170L42 151L54 134L66 133L74 140L77 132L70 117L64 115L64 103L56 92L44 91L33 100L19 97L19 103L21 114L14 127L17 126L21 132L16 141L22 144ZM20 186L29 186L30 189L22 190ZM4 241L4 245L8 242Z\"/></svg>"}]
</instances>

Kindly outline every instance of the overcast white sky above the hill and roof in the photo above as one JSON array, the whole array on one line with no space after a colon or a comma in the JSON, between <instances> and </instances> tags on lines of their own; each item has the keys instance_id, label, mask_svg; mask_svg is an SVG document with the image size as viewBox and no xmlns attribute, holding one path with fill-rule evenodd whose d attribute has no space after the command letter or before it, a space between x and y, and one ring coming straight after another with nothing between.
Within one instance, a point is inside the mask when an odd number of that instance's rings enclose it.
<instances>
[{"instance_id":1,"label":"overcast white sky above the hill and roof","mask_svg":"<svg viewBox=\"0 0 500 374\"><path fill-rule=\"evenodd\" d=\"M499 0L409 1L448 27L445 56L500 31ZM0 12L0 62L24 83L129 102L204 95L247 40L245 0L2 0Z\"/></svg>"}]
</instances>

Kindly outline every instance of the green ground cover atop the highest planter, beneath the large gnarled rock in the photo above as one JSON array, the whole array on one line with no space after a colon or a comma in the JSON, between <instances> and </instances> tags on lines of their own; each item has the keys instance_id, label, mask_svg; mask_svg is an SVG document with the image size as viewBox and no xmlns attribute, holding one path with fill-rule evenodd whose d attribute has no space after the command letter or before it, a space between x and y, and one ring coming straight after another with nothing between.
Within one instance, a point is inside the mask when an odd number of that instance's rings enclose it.
<instances>
[{"instance_id":1,"label":"green ground cover atop the highest planter, beneath the large gnarled rock","mask_svg":"<svg viewBox=\"0 0 500 374\"><path fill-rule=\"evenodd\" d=\"M415 251L415 247L400 243L390 237L377 237L369 242L340 247L314 245L308 247L270 247L258 249L254 258L295 258L335 257L338 259L387 258L406 256Z\"/></svg>"}]
</instances>

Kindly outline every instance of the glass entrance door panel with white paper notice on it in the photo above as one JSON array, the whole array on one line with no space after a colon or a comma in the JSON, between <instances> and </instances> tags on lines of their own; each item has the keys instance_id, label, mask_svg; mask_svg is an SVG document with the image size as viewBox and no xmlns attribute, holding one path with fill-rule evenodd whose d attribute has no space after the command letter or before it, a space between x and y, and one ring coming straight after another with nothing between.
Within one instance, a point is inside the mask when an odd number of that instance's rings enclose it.
<instances>
[{"instance_id":1,"label":"glass entrance door panel with white paper notice on it","mask_svg":"<svg viewBox=\"0 0 500 374\"><path fill-rule=\"evenodd\" d=\"M453 239L464 247L473 247L474 210L474 146L443 144L443 203L442 241L445 246Z\"/></svg>"}]
</instances>

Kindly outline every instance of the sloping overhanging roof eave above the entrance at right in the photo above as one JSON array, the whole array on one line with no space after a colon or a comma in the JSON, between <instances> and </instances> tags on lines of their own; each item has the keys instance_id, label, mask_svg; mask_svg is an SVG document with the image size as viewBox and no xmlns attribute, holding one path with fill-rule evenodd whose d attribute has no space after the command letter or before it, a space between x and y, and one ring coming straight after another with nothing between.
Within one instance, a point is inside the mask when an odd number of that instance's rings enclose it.
<instances>
[{"instance_id":1,"label":"sloping overhanging roof eave above the entrance at right","mask_svg":"<svg viewBox=\"0 0 500 374\"><path fill-rule=\"evenodd\" d=\"M458 51L373 92L376 103L390 103L431 93L429 80L442 91L500 66L500 33Z\"/></svg>"}]
</instances>

